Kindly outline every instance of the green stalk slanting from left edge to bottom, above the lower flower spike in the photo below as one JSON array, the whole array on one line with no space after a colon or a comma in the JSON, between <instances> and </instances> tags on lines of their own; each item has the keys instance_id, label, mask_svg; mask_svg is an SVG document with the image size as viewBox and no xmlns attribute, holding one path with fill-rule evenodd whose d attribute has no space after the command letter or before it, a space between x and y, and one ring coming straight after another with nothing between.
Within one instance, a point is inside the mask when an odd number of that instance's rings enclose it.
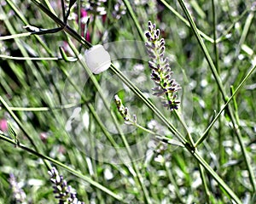
<instances>
[{"instance_id":1,"label":"green stalk slanting from left edge to bottom, above the lower flower spike","mask_svg":"<svg viewBox=\"0 0 256 204\"><path fill-rule=\"evenodd\" d=\"M14 139L9 139L9 137L5 136L3 133L0 133L0 139L3 139L4 141L9 142L10 144L16 144ZM97 189L102 190L103 192L105 192L108 195L112 196L114 199L116 199L118 201L121 201L121 202L124 202L123 198L120 195L117 195L113 191L108 190L108 188L106 188L102 184L97 183L96 181L94 181L90 177L84 176L83 174L79 173L79 171L76 171L76 170L74 170L71 167L67 167L65 164L61 163L60 161L56 161L55 159L52 159L49 156L44 156L44 155L38 153L38 151L32 150L29 147L26 147L26 145L24 145L24 144L19 144L17 147L22 149L22 150L26 150L27 152L31 153L34 156L38 156L39 158L43 159L44 161L50 161L51 163L54 163L57 166L63 167L68 172L72 173L73 175L77 176L78 178L81 178L85 182L93 185Z\"/></svg>"}]
</instances>

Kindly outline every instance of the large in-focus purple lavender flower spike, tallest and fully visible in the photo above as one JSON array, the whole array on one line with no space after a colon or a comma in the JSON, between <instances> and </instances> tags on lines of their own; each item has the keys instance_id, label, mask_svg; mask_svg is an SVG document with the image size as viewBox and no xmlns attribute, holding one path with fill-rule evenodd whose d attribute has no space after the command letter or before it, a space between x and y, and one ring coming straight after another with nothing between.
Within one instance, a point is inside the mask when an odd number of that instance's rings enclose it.
<instances>
[{"instance_id":1,"label":"large in-focus purple lavender flower spike, tallest and fully visible","mask_svg":"<svg viewBox=\"0 0 256 204\"><path fill-rule=\"evenodd\" d=\"M145 43L150 60L148 66L152 70L151 79L154 80L154 95L163 99L162 104L170 111L177 110L180 104L177 91L180 85L172 78L172 71L168 59L164 56L166 47L164 38L160 39L160 30L148 21L148 31L145 32Z\"/></svg>"}]
</instances>

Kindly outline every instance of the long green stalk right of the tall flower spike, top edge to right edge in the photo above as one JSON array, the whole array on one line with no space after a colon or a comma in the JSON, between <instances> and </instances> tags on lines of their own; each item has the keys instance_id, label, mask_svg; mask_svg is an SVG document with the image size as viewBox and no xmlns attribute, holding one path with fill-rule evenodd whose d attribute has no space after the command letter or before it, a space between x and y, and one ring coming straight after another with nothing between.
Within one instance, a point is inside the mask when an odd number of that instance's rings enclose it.
<instances>
[{"instance_id":1,"label":"long green stalk right of the tall flower spike, top edge to right edge","mask_svg":"<svg viewBox=\"0 0 256 204\"><path fill-rule=\"evenodd\" d=\"M212 71L213 77L215 78L215 81L218 84L218 89L219 89L220 93L222 94L224 102L226 102L227 101L227 94L224 91L223 83L221 82L221 79L220 79L220 77L218 75L218 71L217 71L215 65L212 62L212 58L211 58L210 54L207 51L206 45L202 41L201 36L198 33L198 31L197 31L197 28L195 26L195 22L192 19L191 15L189 14L188 8L186 8L183 0L178 0L178 3L183 8L183 12L184 12L184 14L186 15L186 17L189 20L189 24L191 26L191 29L194 32L195 37L196 37L198 43L200 44L202 52L205 55L205 57L207 59L207 62L208 62L208 65L210 66L210 69ZM234 113L233 113L232 109L230 108L230 104L227 104L227 109L228 109L228 114L230 116L230 120L231 120L232 125L233 125L234 133L236 133L236 137L237 137L237 139L239 141L239 144L241 145L241 149L243 149L244 144L242 144L242 141L240 140L241 139L241 132L240 132L240 130L238 128L238 125L236 124L236 119L234 117ZM246 161L246 164L247 164L247 170L248 170L248 173L250 174L249 178L250 178L250 182L251 182L251 184L253 186L253 190L256 190L256 185L255 185L255 181L254 181L252 167L249 165L249 162L247 161L247 159L248 159L247 152L242 150L242 156L244 157L244 160Z\"/></svg>"}]
</instances>

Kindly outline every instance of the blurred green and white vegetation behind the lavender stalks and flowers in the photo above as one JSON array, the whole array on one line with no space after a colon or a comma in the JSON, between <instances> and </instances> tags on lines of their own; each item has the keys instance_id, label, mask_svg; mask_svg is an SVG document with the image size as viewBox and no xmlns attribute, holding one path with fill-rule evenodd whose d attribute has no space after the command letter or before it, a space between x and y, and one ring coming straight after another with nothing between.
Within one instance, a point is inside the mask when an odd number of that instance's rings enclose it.
<instances>
[{"instance_id":1,"label":"blurred green and white vegetation behind the lavender stalks and flowers","mask_svg":"<svg viewBox=\"0 0 256 204\"><path fill-rule=\"evenodd\" d=\"M49 5L61 19L61 1L43 1ZM68 8L68 1L65 1ZM148 29L148 20L160 28L161 37L166 39L166 53L170 56L172 71L176 80L183 87L179 95L182 100L181 114L195 141L207 128L214 116L224 105L219 96L219 90L207 60L201 52L193 32L189 26L166 8L162 1L131 1L139 24L143 31ZM216 31L218 38L218 54L214 52L213 42L204 38L207 49L215 65L218 65L219 75L224 88L230 94L230 86L235 88L246 76L247 71L255 65L255 32L254 23L255 3L253 1L214 1L216 15ZM183 15L182 9L176 1L169 3L178 14ZM194 17L198 28L213 39L214 20L212 18L212 1L187 1L190 14ZM106 44L116 41L143 41L137 32L131 15L121 1L77 1L67 20L80 35L91 44ZM45 156L73 167L84 175L90 176L96 182L106 186L109 190L124 197L124 202L145 203L145 191L142 190L133 173L134 167L129 164L115 164L105 162L104 149L95 152L92 147L97 139L103 144L113 144L103 133L104 128L99 125L96 116L109 130L113 126L108 123L109 110L102 108L101 101L96 100L97 90L90 78L85 75L84 81L79 72L71 77L74 82L86 84L82 92L84 98L69 89L67 72L79 70L78 61L67 62L61 59L59 47L62 47L68 57L75 57L70 47L73 42L75 48L84 54L84 48L72 37L68 39L64 31L45 35L15 37L3 40L19 33L26 33L23 26L32 25L38 28L51 29L56 24L32 1L0 0L0 94L22 122L32 140ZM128 52L128 51L127 51ZM8 59L8 56L23 59ZM216 56L218 57L216 59ZM42 60L26 60L24 58L48 58ZM55 60L58 58L59 60ZM152 96L150 88L150 70L147 62L138 59L117 59L114 62L120 71L127 73L131 82L148 95L154 104L164 111L165 116L176 124L172 113L161 108L159 99ZM79 68L80 67L80 68ZM118 78L111 73L95 76L101 83L102 91L107 95L117 94L123 99L131 113L135 111L138 122L144 127L154 129L165 135L172 135L163 127L154 114L148 110L142 101L131 91L126 90ZM246 150L253 172L255 173L255 116L256 110L256 77L253 75L244 88L236 95L236 117L240 124L242 142ZM116 84L115 84L116 83ZM67 87L68 84L68 87ZM113 91L111 86L114 86ZM77 84L81 86L81 84ZM109 86L109 87L108 87ZM116 87L120 89L116 91ZM64 94L63 94L64 93ZM67 101L63 101L63 95ZM111 95L113 97L113 95ZM65 103L64 103L65 102ZM66 104L67 103L67 104ZM113 103L111 109L119 122L119 127L125 127ZM69 108L63 107L69 105ZM14 108L15 107L15 108ZM37 109L44 107L43 110ZM72 128L67 127L67 121L73 111L81 108L81 117L72 119ZM135 108L133 108L135 107ZM25 108L34 108L26 110ZM101 113L103 112L103 114ZM105 114L105 112L107 112ZM76 121L77 120L77 121ZM84 123L81 122L84 120ZM20 143L33 149L26 135L20 130L9 112L3 105L0 106L0 128L8 134L6 122L12 123L18 133ZM76 124L77 122L77 124ZM111 122L111 121L110 121ZM81 127L83 126L83 127ZM85 126L85 127L84 127ZM130 128L130 127L129 127ZM129 130L128 128L128 130ZM131 128L132 129L132 128ZM181 130L182 131L182 130ZM114 132L114 130L113 130ZM128 131L129 132L129 131ZM132 129L125 132L129 144L137 144L143 139L151 137L141 130ZM124 147L119 134L110 133L114 141ZM85 136L86 135L86 136ZM84 139L85 138L85 139ZM151 137L154 138L154 137ZM87 140L86 140L87 139ZM86 150L84 150L84 148ZM218 184L206 173L207 186L210 191L210 200L202 185L198 164L184 148L174 145L159 144L155 139L147 140L141 153L134 153L135 163L143 178L143 185L148 191L149 200L153 203L231 203ZM146 154L151 150L151 154ZM140 151L140 150L136 150ZM230 119L222 115L212 127L208 138L199 147L201 156L224 179L243 203L253 201L253 187L249 182L248 172L242 158L241 146L235 133L230 128ZM1 140L0 143L0 203L15 203L10 191L9 173L14 173L20 187L26 193L24 203L56 203L53 190L50 188L49 175L43 161L25 150L15 148ZM95 155L98 154L98 155ZM145 156L137 157L137 154ZM110 160L111 161L111 160ZM119 203L102 190L82 181L67 171L59 168L67 179L68 184L77 190L79 200L85 203ZM19 201L16 201L19 203ZM253 202L252 202L253 203Z\"/></svg>"}]
</instances>

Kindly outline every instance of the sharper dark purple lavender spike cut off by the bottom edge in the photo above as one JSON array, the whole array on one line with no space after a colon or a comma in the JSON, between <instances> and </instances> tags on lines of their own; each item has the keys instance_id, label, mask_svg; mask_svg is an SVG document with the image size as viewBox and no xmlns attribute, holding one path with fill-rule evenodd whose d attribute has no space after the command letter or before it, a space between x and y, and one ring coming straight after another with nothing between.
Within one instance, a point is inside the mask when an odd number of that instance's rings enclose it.
<instances>
[{"instance_id":1,"label":"sharper dark purple lavender spike cut off by the bottom edge","mask_svg":"<svg viewBox=\"0 0 256 204\"><path fill-rule=\"evenodd\" d=\"M67 181L59 175L55 167L48 171L48 173L53 184L55 198L59 199L59 204L84 204L84 202L78 200L73 188L70 185L67 186Z\"/></svg>"}]
</instances>

